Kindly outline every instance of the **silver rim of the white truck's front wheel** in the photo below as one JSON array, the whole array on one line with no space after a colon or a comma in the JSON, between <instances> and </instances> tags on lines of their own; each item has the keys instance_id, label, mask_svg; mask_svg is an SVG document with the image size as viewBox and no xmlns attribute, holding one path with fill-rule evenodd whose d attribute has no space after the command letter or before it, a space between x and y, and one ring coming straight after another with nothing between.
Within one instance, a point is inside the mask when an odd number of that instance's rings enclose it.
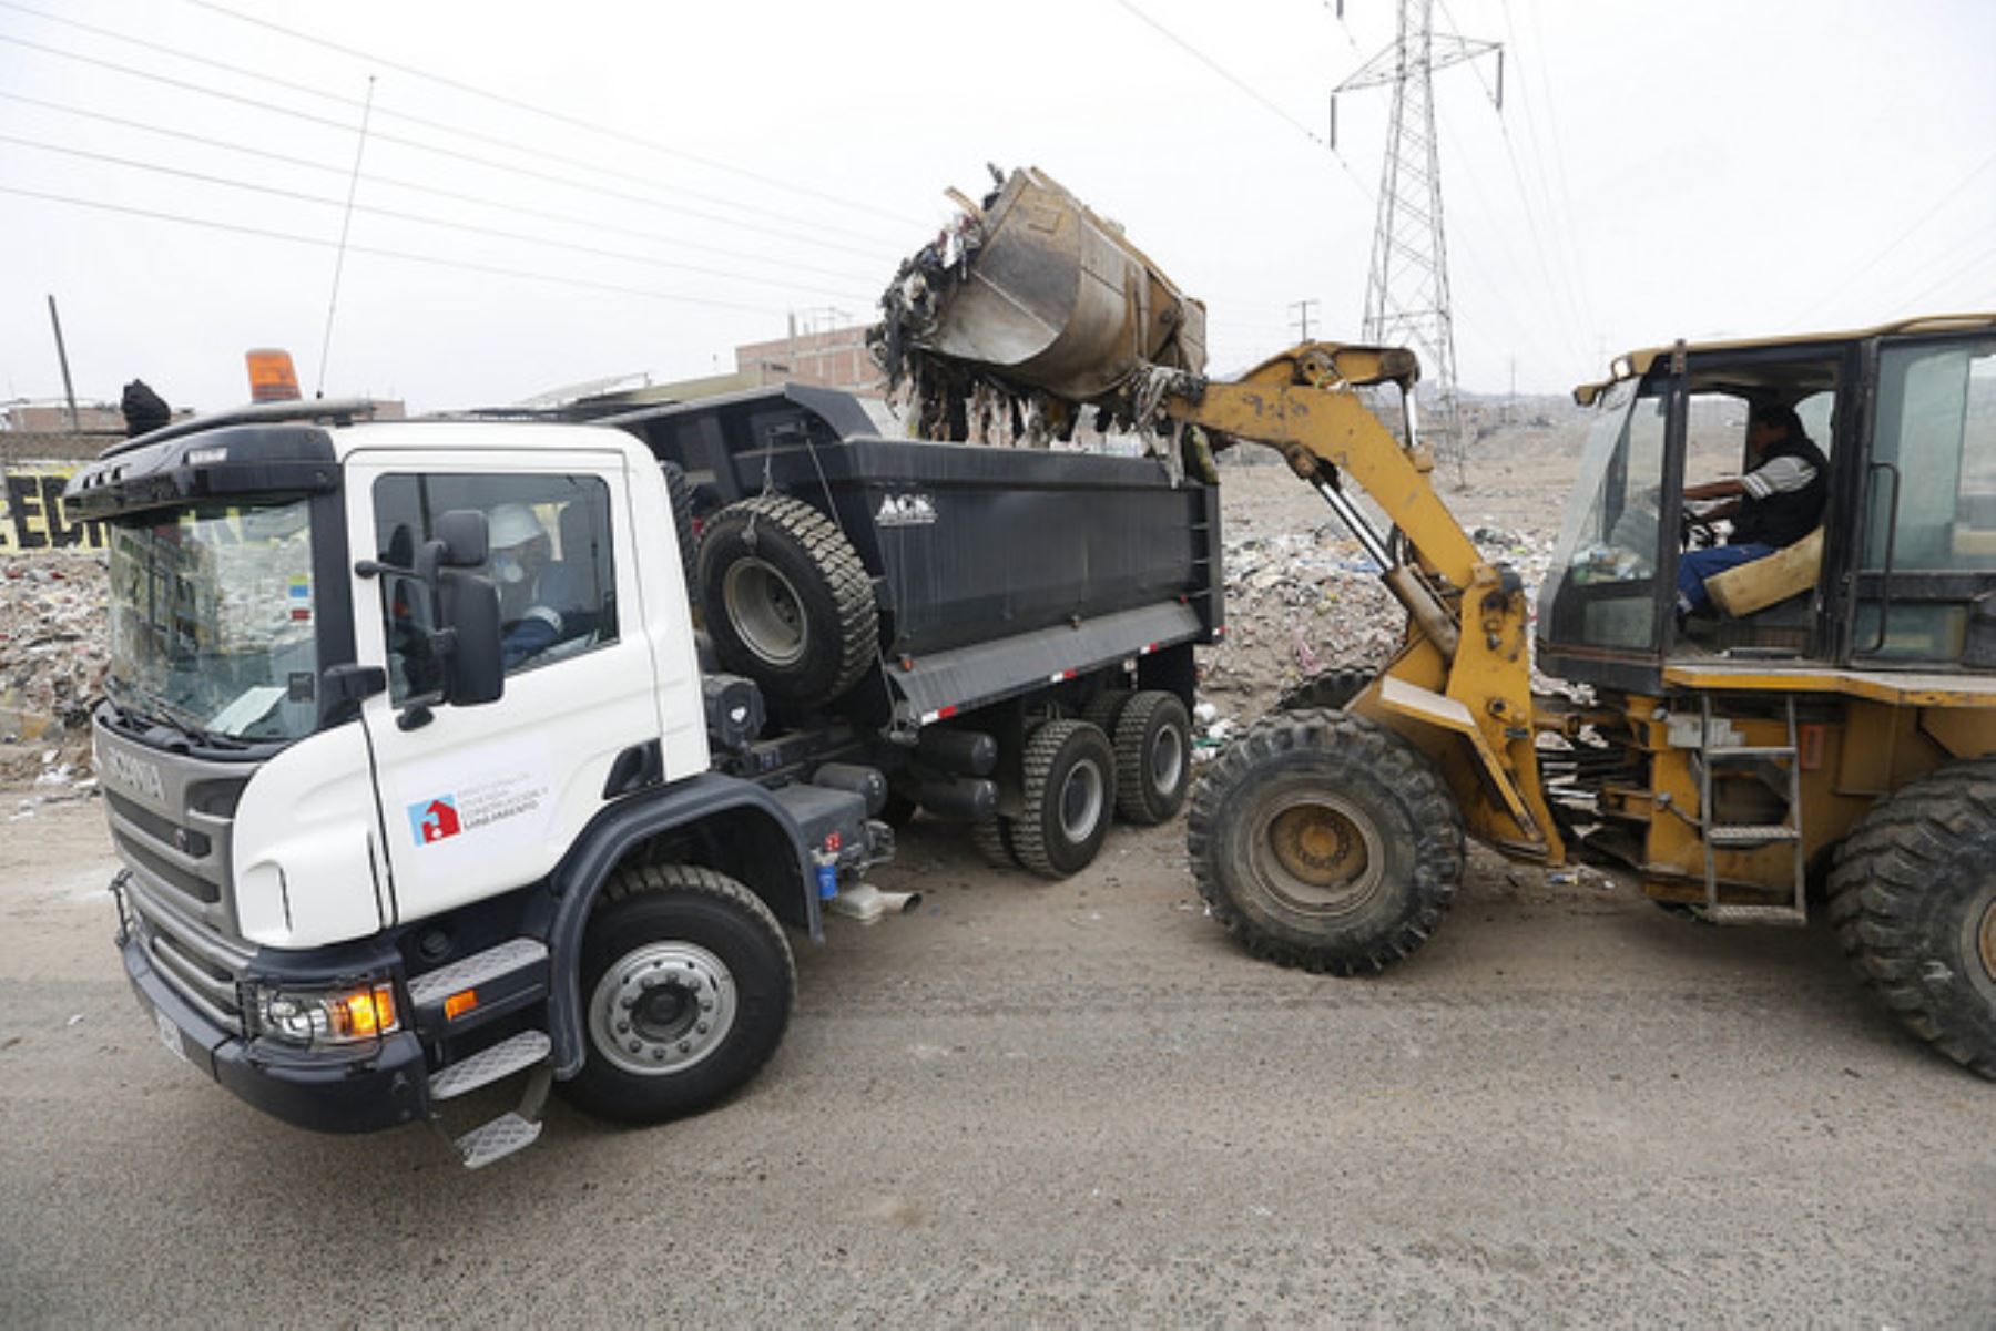
<instances>
[{"instance_id":1,"label":"silver rim of the white truck's front wheel","mask_svg":"<svg viewBox=\"0 0 1996 1331\"><path fill-rule=\"evenodd\" d=\"M735 976L719 956L691 942L655 942L597 980L589 1036L623 1072L663 1076L713 1056L735 1012Z\"/></svg>"}]
</instances>

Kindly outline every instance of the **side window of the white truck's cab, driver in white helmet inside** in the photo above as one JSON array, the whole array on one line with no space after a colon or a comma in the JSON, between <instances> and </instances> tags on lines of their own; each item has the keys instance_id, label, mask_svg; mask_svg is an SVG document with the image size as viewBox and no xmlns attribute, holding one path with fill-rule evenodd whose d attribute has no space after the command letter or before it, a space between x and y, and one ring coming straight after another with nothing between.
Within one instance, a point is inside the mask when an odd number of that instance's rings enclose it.
<instances>
[{"instance_id":1,"label":"side window of the white truck's cab, driver in white helmet inside","mask_svg":"<svg viewBox=\"0 0 1996 1331\"><path fill-rule=\"evenodd\" d=\"M505 672L517 674L617 641L609 487L585 475L387 475L375 483L379 559L407 567L451 509L485 513L499 587ZM405 579L381 579L389 700L397 706L437 686L419 629L425 599Z\"/></svg>"}]
</instances>

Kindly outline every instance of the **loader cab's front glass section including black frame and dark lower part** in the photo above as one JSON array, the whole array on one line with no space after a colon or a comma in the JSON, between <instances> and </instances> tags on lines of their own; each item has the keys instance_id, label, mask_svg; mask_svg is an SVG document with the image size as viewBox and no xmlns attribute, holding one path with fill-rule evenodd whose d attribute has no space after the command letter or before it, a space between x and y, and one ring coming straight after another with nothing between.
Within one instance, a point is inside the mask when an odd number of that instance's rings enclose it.
<instances>
[{"instance_id":1,"label":"loader cab's front glass section including black frame and dark lower part","mask_svg":"<svg viewBox=\"0 0 1996 1331\"><path fill-rule=\"evenodd\" d=\"M1677 565L1683 437L1677 381L1613 385L1595 407L1581 471L1539 591L1539 668L1611 688L1653 686Z\"/></svg>"}]
</instances>

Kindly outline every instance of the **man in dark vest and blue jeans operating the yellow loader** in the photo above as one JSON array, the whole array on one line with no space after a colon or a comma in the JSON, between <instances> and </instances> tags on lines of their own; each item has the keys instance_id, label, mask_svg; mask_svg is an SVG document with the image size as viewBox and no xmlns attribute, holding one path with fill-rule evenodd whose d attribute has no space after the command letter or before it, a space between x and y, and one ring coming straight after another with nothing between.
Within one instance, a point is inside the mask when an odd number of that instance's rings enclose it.
<instances>
[{"instance_id":1,"label":"man in dark vest and blue jeans operating the yellow loader","mask_svg":"<svg viewBox=\"0 0 1996 1331\"><path fill-rule=\"evenodd\" d=\"M1756 403L1746 415L1746 475L1687 485L1685 501L1723 501L1699 521L1733 519L1727 545L1685 551L1677 561L1677 613L1711 611L1705 579L1766 559L1794 545L1822 521L1830 463L1802 433L1792 407Z\"/></svg>"}]
</instances>

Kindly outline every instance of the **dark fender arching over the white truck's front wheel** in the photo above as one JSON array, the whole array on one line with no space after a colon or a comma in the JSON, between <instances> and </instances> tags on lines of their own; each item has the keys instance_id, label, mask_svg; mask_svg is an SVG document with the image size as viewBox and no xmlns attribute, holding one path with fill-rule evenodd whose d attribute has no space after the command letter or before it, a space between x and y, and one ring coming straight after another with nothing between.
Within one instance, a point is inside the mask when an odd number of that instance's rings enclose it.
<instances>
[{"instance_id":1,"label":"dark fender arching over the white truck's front wheel","mask_svg":"<svg viewBox=\"0 0 1996 1331\"><path fill-rule=\"evenodd\" d=\"M553 966L547 1024L557 1078L567 1080L583 1070L587 1042L581 956L597 896L617 866L645 842L671 832L689 832L699 840L709 830L737 854L760 854L758 866L737 860L713 868L747 884L784 924L806 930L812 942L822 940L810 852L768 790L721 772L701 772L663 790L619 800L583 828L551 880L557 900L547 938Z\"/></svg>"}]
</instances>

